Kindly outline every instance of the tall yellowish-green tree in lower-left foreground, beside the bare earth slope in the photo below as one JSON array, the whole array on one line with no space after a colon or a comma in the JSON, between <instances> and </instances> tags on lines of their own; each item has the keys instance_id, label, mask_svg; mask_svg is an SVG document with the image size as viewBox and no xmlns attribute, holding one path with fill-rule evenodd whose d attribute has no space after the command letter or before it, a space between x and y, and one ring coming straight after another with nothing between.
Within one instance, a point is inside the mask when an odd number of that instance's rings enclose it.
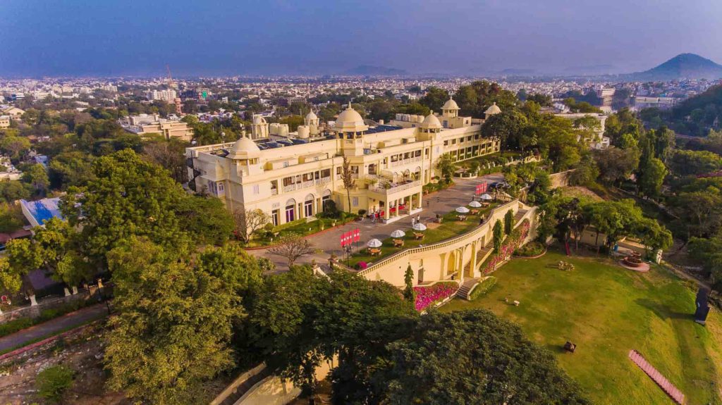
<instances>
[{"instance_id":1,"label":"tall yellowish-green tree in lower-left foreground, beside the bare earth slope","mask_svg":"<svg viewBox=\"0 0 722 405\"><path fill-rule=\"evenodd\" d=\"M201 401L200 384L233 365L231 324L242 313L234 284L145 238L116 244L108 263L117 312L108 387L147 404Z\"/></svg>"}]
</instances>

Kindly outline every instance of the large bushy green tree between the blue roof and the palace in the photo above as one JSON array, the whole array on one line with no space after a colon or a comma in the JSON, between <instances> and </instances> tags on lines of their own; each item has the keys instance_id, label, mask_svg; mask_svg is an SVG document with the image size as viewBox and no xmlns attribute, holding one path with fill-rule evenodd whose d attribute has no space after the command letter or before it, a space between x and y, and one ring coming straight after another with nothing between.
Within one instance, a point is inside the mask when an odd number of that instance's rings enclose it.
<instances>
[{"instance_id":1,"label":"large bushy green tree between the blue roof and the palace","mask_svg":"<svg viewBox=\"0 0 722 405\"><path fill-rule=\"evenodd\" d=\"M131 236L146 236L168 249L188 249L188 235L176 214L186 193L168 172L130 149L100 157L92 172L95 179L85 187L70 187L61 200L70 225L80 228L84 256L103 264L105 254Z\"/></svg>"}]
</instances>

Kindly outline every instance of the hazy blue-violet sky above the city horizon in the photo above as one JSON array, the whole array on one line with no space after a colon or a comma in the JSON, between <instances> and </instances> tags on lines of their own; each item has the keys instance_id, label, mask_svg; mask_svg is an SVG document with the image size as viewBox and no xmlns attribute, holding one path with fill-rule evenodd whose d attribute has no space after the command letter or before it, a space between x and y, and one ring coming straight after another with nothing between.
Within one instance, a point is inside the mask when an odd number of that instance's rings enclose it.
<instances>
[{"instance_id":1,"label":"hazy blue-violet sky above the city horizon","mask_svg":"<svg viewBox=\"0 0 722 405\"><path fill-rule=\"evenodd\" d=\"M639 71L722 62L722 1L0 0L0 76Z\"/></svg>"}]
</instances>

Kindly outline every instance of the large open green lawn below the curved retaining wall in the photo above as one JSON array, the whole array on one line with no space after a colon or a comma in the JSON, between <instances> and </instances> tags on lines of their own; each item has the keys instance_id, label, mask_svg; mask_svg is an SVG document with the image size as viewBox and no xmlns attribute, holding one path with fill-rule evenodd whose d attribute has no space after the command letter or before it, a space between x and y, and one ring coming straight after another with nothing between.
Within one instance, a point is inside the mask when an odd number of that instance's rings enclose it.
<instances>
[{"instance_id":1,"label":"large open green lawn below the curved retaining wall","mask_svg":"<svg viewBox=\"0 0 722 405\"><path fill-rule=\"evenodd\" d=\"M560 259L575 270L554 267ZM638 350L687 397L687 404L722 404L722 316L695 324L696 289L667 270L632 272L606 259L568 259L549 252L513 259L495 272L496 285L477 301L454 300L441 311L487 308L519 324L547 347L596 404L672 404L627 358ZM521 305L510 306L510 301ZM574 354L562 345L578 344ZM717 383L714 383L714 382Z\"/></svg>"}]
</instances>

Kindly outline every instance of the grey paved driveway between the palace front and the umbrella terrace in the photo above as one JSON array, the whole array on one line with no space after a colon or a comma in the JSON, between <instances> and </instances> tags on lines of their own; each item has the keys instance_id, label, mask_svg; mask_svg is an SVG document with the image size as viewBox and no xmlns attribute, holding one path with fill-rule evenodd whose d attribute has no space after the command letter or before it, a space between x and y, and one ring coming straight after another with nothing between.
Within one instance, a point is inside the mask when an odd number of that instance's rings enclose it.
<instances>
[{"instance_id":1,"label":"grey paved driveway between the palace front and the umbrella terrace","mask_svg":"<svg viewBox=\"0 0 722 405\"><path fill-rule=\"evenodd\" d=\"M425 195L422 197L423 207L420 213L414 215L421 215L421 220L426 223L430 218L435 218L436 214L445 214L455 208L466 205L471 202L471 197L474 196L477 184L487 182L497 182L503 179L503 174L487 174L484 177L477 179L455 179L456 184L453 187L449 187L446 190L435 192L431 195ZM345 232L351 231L352 229L359 228L361 231L361 241L358 243L358 249L365 249L366 242L370 239L383 240L395 229L402 229L408 231L411 229L411 216L402 218L399 221L393 223L373 223L370 219L364 218L362 221L347 223L344 226L337 226L336 228L321 233L310 235L307 239L313 242L313 246L317 249L321 249L323 253L313 254L307 257L299 259L299 264L310 263L312 260L316 260L318 264L327 266L329 262L329 256L336 254L336 256L345 257L344 252L341 249L339 242L341 235ZM354 251L356 251L356 245L354 244ZM268 257L275 264L278 270L287 270L288 262L284 257L280 257L277 254L271 254L268 249L256 249L250 250L249 253L258 257Z\"/></svg>"}]
</instances>

